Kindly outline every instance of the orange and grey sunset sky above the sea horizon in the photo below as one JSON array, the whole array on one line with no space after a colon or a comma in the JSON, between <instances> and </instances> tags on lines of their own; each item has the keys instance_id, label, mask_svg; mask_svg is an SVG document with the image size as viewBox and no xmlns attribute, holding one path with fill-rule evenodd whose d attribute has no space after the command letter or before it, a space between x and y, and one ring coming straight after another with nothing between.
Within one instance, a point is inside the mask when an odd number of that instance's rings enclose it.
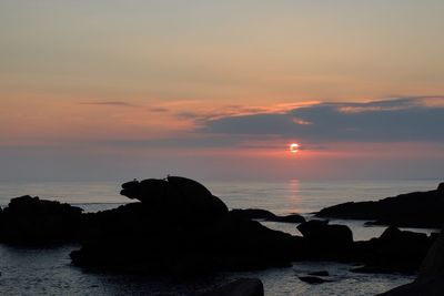
<instances>
[{"instance_id":1,"label":"orange and grey sunset sky above the sea horizon","mask_svg":"<svg viewBox=\"0 0 444 296\"><path fill-rule=\"evenodd\" d=\"M442 178L443 13L0 0L0 181Z\"/></svg>"}]
</instances>

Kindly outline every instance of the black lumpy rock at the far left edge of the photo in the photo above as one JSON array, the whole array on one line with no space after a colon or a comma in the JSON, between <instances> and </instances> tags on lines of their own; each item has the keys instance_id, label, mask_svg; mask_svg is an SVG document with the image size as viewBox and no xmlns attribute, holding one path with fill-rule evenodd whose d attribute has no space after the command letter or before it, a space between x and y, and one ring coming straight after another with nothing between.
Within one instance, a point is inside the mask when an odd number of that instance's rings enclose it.
<instances>
[{"instance_id":1,"label":"black lumpy rock at the far left edge of the photo","mask_svg":"<svg viewBox=\"0 0 444 296\"><path fill-rule=\"evenodd\" d=\"M46 243L79 235L82 210L29 195L12 198L0 214L0 241Z\"/></svg>"}]
</instances>

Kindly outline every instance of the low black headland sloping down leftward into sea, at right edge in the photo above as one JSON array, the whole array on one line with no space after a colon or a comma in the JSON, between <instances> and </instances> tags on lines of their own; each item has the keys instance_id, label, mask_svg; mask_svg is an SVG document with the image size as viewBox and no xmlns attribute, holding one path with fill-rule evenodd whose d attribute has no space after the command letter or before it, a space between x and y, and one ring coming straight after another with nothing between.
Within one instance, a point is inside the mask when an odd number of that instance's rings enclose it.
<instances>
[{"instance_id":1,"label":"low black headland sloping down leftward into sea, at right edge","mask_svg":"<svg viewBox=\"0 0 444 296\"><path fill-rule=\"evenodd\" d=\"M444 223L444 183L434 191L413 192L377 202L350 202L321 210L317 217L374 221L376 225L440 228Z\"/></svg>"}]
</instances>

